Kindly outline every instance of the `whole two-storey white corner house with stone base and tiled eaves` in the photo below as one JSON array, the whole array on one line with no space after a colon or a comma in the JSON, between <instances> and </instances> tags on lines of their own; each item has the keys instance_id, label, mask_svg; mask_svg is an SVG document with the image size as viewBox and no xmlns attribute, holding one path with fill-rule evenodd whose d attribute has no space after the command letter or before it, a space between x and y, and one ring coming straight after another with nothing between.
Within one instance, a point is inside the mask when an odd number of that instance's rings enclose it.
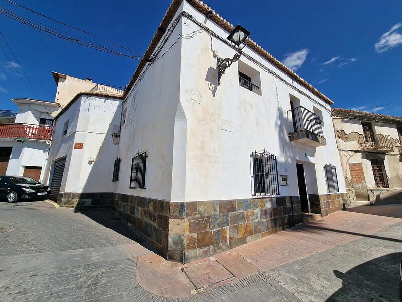
<instances>
[{"instance_id":1,"label":"whole two-storey white corner house with stone base and tiled eaves","mask_svg":"<svg viewBox=\"0 0 402 302\"><path fill-rule=\"evenodd\" d=\"M55 117L53 199L110 206L179 262L348 203L329 98L251 39L218 85L233 28L173 0L121 94L56 96L68 105Z\"/></svg>"}]
</instances>

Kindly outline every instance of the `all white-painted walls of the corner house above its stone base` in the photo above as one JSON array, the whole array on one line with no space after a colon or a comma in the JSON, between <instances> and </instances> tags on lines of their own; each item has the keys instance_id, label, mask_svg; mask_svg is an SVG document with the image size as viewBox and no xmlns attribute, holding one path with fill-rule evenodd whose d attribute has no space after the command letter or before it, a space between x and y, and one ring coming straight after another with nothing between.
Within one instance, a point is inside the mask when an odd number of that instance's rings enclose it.
<instances>
[{"instance_id":1,"label":"all white-painted walls of the corner house above its stone base","mask_svg":"<svg viewBox=\"0 0 402 302\"><path fill-rule=\"evenodd\" d=\"M186 1L172 20L183 11L227 37ZM345 193L330 106L248 47L244 53L269 71L243 55L217 86L213 50L220 57L233 57L235 50L200 29L181 17L123 102L83 95L57 118L50 158L67 157L60 192L115 192L173 202L251 198L250 155L265 149L277 156L278 176L288 176L288 186L280 186L277 196L299 194L296 163L304 164L308 194L327 194L324 165L329 163L336 167L339 193ZM258 94L239 86L239 71L260 86ZM291 98L322 117L325 146L289 141ZM112 129L121 116L118 144L113 144ZM69 130L62 137L67 120ZM73 149L75 143L83 143L83 149ZM132 158L144 151L145 189L130 189ZM119 181L112 182L117 157Z\"/></svg>"}]
</instances>

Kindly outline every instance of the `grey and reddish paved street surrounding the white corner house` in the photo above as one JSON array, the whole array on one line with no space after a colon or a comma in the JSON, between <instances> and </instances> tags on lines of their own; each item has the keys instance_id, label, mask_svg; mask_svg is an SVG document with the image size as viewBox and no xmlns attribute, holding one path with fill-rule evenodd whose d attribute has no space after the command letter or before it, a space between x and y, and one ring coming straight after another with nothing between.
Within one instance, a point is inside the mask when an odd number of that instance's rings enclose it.
<instances>
[{"instance_id":1,"label":"grey and reddish paved street surrounding the white corner house","mask_svg":"<svg viewBox=\"0 0 402 302\"><path fill-rule=\"evenodd\" d=\"M0 202L0 300L399 301L400 213L337 212L182 265L109 210Z\"/></svg>"}]
</instances>

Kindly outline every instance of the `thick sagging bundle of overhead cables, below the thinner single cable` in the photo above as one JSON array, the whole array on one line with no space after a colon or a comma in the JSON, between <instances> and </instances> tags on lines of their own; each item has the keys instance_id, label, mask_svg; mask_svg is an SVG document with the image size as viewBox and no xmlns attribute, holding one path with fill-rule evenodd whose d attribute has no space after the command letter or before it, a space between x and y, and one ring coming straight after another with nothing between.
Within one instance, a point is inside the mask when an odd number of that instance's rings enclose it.
<instances>
[{"instance_id":1,"label":"thick sagging bundle of overhead cables, below the thinner single cable","mask_svg":"<svg viewBox=\"0 0 402 302\"><path fill-rule=\"evenodd\" d=\"M73 38L71 36L66 36L66 35L64 35L64 34L62 34L60 32L57 32L56 29L52 30L52 29L50 29L48 27L41 26L38 22L35 22L35 21L29 20L27 18L24 18L22 16L19 16L19 15L15 14L14 12L12 12L10 10L7 10L7 9L4 9L4 8L0 8L0 14L2 14L4 16L7 16L7 17L9 17L11 19L14 19L14 20L16 20L16 21L18 21L18 22L20 22L22 24L28 25L31 28L36 29L36 30L38 30L38 31L40 31L42 33L45 33L45 34L48 34L48 35L53 35L53 36L56 36L56 37L58 37L60 39L67 40L69 42L72 42L72 43L75 43L75 44L78 44L78 45L81 45L81 46L89 47L89 48L92 48L92 49L95 49L95 50L103 51L103 52L106 52L106 53L109 53L109 54L113 54L113 55L117 55L117 56L121 56L121 57L126 57L126 58L130 58L130 59L134 59L134 60L142 60L142 57L140 57L140 56L133 56L133 55L130 55L130 54L115 51L115 50L113 50L111 48L108 48L108 47L106 47L104 45L101 45L101 44L97 44L95 42L85 42L85 41L82 41L80 39Z\"/></svg>"}]
</instances>

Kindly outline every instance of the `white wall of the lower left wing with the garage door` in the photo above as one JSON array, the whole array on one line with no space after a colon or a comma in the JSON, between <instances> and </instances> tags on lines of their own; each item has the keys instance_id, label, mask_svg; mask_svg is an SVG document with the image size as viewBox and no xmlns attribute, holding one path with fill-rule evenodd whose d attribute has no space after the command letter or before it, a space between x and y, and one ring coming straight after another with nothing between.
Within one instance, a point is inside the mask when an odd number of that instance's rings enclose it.
<instances>
[{"instance_id":1,"label":"white wall of the lower left wing with the garage door","mask_svg":"<svg viewBox=\"0 0 402 302\"><path fill-rule=\"evenodd\" d=\"M113 161L117 145L112 143L113 125L120 122L120 100L81 96L57 120L49 155L51 163L66 157L60 192L112 192ZM68 131L63 135L64 123ZM74 149L83 143L83 149ZM88 163L89 159L94 163Z\"/></svg>"}]
</instances>

